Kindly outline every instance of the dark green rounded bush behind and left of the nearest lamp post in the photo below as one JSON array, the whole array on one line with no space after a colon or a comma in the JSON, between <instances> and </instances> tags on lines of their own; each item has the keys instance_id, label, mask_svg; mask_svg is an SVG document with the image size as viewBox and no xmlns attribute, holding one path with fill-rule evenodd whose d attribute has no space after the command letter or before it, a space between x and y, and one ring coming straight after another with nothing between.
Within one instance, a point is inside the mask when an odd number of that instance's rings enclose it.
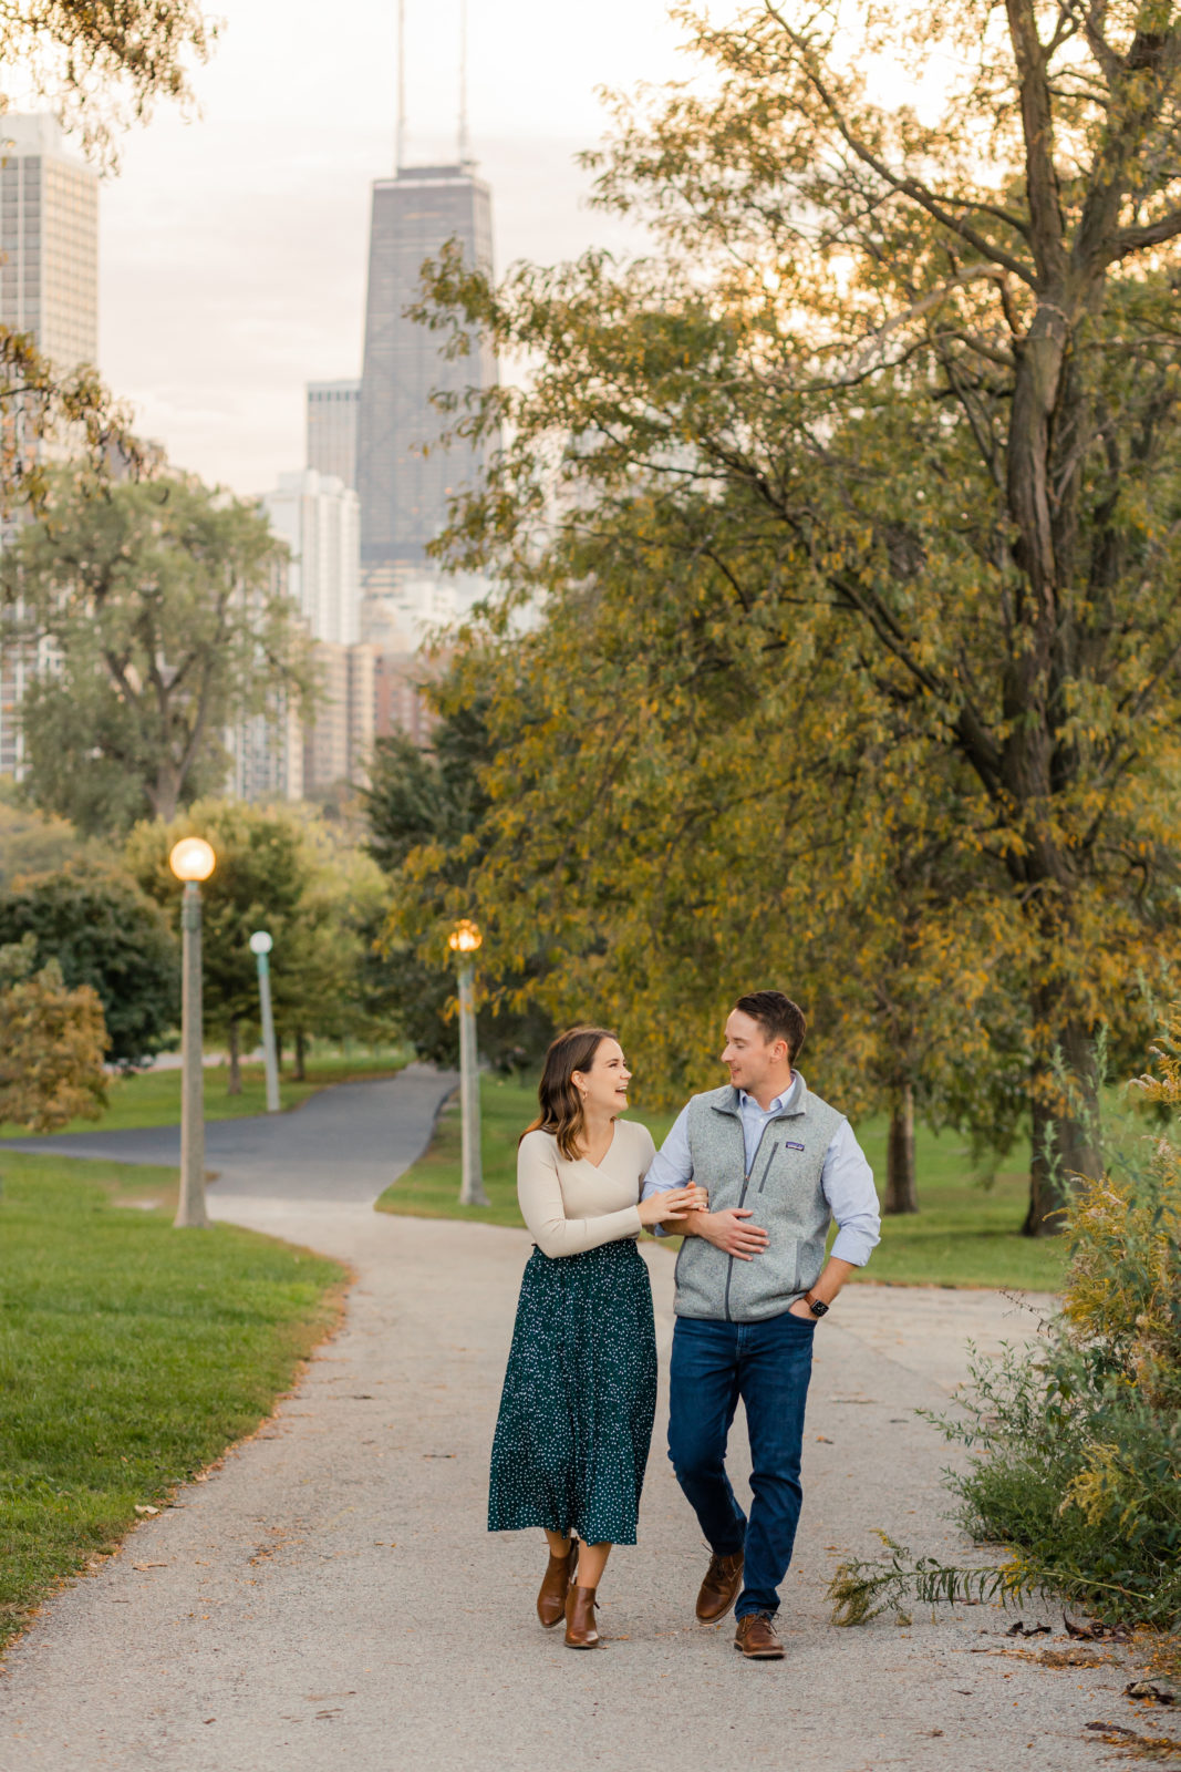
<instances>
[{"instance_id":1,"label":"dark green rounded bush behind and left of the nearest lamp post","mask_svg":"<svg viewBox=\"0 0 1181 1772\"><path fill-rule=\"evenodd\" d=\"M27 936L37 966L55 960L67 989L94 989L110 1061L142 1065L172 1044L181 952L163 911L135 881L89 863L14 881L0 891L0 944Z\"/></svg>"}]
</instances>

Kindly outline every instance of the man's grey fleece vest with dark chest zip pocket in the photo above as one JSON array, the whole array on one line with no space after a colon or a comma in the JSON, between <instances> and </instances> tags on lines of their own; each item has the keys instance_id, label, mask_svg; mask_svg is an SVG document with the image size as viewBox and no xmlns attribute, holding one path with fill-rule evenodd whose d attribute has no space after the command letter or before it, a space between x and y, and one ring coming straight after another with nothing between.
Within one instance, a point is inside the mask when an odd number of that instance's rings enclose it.
<instances>
[{"instance_id":1,"label":"man's grey fleece vest with dark chest zip pocket","mask_svg":"<svg viewBox=\"0 0 1181 1772\"><path fill-rule=\"evenodd\" d=\"M845 1120L799 1079L788 1104L763 1127L747 1171L738 1090L729 1083L689 1102L692 1177L710 1191L710 1212L749 1207L768 1233L751 1262L685 1237L676 1256L676 1315L754 1324L779 1317L820 1279L829 1201L820 1185L825 1152Z\"/></svg>"}]
</instances>

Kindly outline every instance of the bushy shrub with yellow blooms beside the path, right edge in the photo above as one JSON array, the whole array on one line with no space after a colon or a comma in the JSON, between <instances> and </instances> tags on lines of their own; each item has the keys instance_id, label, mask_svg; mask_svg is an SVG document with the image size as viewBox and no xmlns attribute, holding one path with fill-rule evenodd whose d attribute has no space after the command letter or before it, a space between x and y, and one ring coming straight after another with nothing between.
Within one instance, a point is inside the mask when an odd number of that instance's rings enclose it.
<instances>
[{"instance_id":1,"label":"bushy shrub with yellow blooms beside the path, right edge","mask_svg":"<svg viewBox=\"0 0 1181 1772\"><path fill-rule=\"evenodd\" d=\"M1034 1356L976 1361L967 1411L942 1432L974 1453L951 1476L992 1568L949 1570L889 1545L846 1563L836 1616L861 1623L921 1600L1054 1589L1108 1623L1181 1628L1181 1005L1130 1088L1165 1122L1119 1141L1066 1209L1062 1308Z\"/></svg>"}]
</instances>

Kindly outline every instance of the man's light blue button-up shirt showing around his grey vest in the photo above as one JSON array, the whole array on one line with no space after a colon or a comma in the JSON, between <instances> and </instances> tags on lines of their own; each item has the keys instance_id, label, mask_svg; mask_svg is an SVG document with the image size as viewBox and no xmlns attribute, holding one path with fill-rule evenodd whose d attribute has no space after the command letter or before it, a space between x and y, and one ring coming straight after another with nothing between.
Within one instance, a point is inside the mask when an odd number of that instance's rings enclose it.
<instances>
[{"instance_id":1,"label":"man's light blue button-up shirt showing around his grey vest","mask_svg":"<svg viewBox=\"0 0 1181 1772\"><path fill-rule=\"evenodd\" d=\"M747 1171L754 1162L763 1129L783 1108L790 1108L804 1090L804 1077L795 1072L783 1095L776 1095L770 1108L760 1108L753 1095L738 1090L738 1113L742 1115L742 1139L745 1143ZM692 1157L689 1154L689 1108L682 1108L673 1122L669 1136L652 1159L652 1168L645 1177L643 1198L668 1193L669 1187L685 1187L692 1180ZM857 1143L848 1120L841 1120L825 1150L820 1185L829 1201L829 1210L839 1230L832 1244L832 1255L853 1267L864 1267L871 1251L882 1240L882 1217L878 1212L878 1194L873 1185L873 1170L866 1162L866 1154ZM758 1223L758 1216L756 1216ZM657 1235L675 1233L669 1224L664 1232L657 1226Z\"/></svg>"}]
</instances>

